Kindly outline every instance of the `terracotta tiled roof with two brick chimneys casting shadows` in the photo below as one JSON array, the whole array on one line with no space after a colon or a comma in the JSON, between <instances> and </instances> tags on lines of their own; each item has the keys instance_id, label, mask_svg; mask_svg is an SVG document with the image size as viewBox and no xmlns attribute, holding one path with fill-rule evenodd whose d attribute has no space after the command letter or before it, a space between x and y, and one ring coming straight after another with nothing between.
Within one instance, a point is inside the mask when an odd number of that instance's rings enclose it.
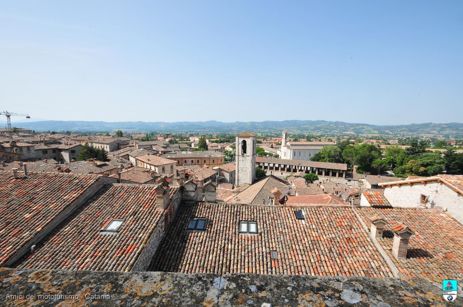
<instances>
[{"instance_id":1,"label":"terracotta tiled roof with two brick chimneys casting shadows","mask_svg":"<svg viewBox=\"0 0 463 307\"><path fill-rule=\"evenodd\" d=\"M372 208L356 209L369 227L371 216L387 221L381 246L395 266L406 277L463 278L463 225L438 209ZM390 250L393 230L407 225L410 237L407 258L397 260Z\"/></svg>"}]
</instances>

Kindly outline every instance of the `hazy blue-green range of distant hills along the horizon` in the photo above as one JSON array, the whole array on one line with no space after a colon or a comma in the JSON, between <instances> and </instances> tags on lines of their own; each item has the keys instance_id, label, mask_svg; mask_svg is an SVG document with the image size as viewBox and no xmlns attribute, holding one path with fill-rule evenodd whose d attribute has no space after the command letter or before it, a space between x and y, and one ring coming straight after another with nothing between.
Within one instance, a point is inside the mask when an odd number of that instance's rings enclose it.
<instances>
[{"instance_id":1,"label":"hazy blue-green range of distant hills along the horizon","mask_svg":"<svg viewBox=\"0 0 463 307\"><path fill-rule=\"evenodd\" d=\"M0 126L5 126L0 122ZM281 132L303 134L368 134L368 135L427 135L463 137L462 123L419 123L409 125L379 126L365 123L344 123L330 121L264 121L264 122L87 122L87 121L38 121L13 123L13 126L39 131L78 131L78 132L106 132L121 129L124 131L165 131L165 132L239 132L250 131L257 133Z\"/></svg>"}]
</instances>

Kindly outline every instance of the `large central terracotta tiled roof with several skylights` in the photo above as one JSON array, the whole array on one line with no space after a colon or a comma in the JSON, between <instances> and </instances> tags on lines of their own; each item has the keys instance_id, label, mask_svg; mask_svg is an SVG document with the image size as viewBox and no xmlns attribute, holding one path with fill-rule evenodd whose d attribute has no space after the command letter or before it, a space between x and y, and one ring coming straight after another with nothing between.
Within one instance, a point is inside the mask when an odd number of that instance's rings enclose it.
<instances>
[{"instance_id":1,"label":"large central terracotta tiled roof with several skylights","mask_svg":"<svg viewBox=\"0 0 463 307\"><path fill-rule=\"evenodd\" d=\"M182 273L257 273L393 276L350 208L197 203L184 205L153 259L152 270ZM186 230L205 218L204 231ZM238 233L257 221L258 234ZM277 259L271 258L276 251Z\"/></svg>"}]
</instances>

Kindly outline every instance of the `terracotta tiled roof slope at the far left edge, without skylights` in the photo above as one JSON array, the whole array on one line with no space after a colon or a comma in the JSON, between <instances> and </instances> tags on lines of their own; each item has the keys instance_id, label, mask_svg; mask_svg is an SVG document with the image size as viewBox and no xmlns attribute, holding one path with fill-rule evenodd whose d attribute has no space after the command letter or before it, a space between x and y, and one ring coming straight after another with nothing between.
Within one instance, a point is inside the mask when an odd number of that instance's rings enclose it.
<instances>
[{"instance_id":1,"label":"terracotta tiled roof slope at the far left edge, without skylights","mask_svg":"<svg viewBox=\"0 0 463 307\"><path fill-rule=\"evenodd\" d=\"M0 171L0 266L98 180L95 175ZM20 213L20 214L19 214Z\"/></svg>"}]
</instances>

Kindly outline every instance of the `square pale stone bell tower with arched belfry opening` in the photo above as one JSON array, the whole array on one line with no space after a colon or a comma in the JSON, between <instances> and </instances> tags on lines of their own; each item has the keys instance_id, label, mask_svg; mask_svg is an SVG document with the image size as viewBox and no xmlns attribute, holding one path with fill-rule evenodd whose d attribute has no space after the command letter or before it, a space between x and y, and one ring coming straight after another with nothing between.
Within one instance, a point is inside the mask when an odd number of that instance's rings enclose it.
<instances>
[{"instance_id":1,"label":"square pale stone bell tower with arched belfry opening","mask_svg":"<svg viewBox=\"0 0 463 307\"><path fill-rule=\"evenodd\" d=\"M243 132L236 136L236 186L252 184L256 178L256 135Z\"/></svg>"}]
</instances>

